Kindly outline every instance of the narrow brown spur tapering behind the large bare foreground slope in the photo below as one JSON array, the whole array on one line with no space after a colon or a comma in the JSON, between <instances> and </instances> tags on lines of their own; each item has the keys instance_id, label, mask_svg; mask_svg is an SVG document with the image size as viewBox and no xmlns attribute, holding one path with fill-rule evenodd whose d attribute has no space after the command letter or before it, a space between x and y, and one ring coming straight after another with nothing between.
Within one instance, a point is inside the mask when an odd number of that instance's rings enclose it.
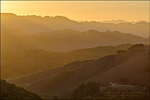
<instances>
[{"instance_id":1,"label":"narrow brown spur tapering behind the large bare foreground slope","mask_svg":"<svg viewBox=\"0 0 150 100\"><path fill-rule=\"evenodd\" d=\"M25 86L25 85L28 85L28 84L34 82L34 81L37 81L39 79L55 75L55 74L57 74L59 72L65 71L65 70L69 71L69 70L76 69L80 65L83 65L83 64L85 64L87 62L91 62L91 61L93 61L93 60L75 61L75 62L66 64L66 65L64 65L62 67L52 68L52 69L41 71L41 72L37 72L37 73L34 73L34 74L21 76L21 77L19 77L17 79L10 80L10 82L15 83L15 84L19 84L19 85L22 85L22 86Z\"/></svg>"}]
</instances>

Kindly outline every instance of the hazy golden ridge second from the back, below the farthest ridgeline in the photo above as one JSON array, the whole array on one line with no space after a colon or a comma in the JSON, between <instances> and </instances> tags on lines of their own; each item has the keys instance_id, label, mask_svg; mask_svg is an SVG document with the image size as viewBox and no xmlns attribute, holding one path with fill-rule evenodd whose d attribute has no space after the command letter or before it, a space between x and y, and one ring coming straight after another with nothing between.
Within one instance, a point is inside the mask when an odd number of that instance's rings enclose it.
<instances>
[{"instance_id":1,"label":"hazy golden ridge second from the back, below the farthest ridgeline","mask_svg":"<svg viewBox=\"0 0 150 100\"><path fill-rule=\"evenodd\" d=\"M96 30L88 30L79 32L64 29L25 34L19 30L4 30L2 31L2 53L20 52L28 49L64 52L123 43L148 43L148 40L148 38L118 31L99 32Z\"/></svg>"}]
</instances>

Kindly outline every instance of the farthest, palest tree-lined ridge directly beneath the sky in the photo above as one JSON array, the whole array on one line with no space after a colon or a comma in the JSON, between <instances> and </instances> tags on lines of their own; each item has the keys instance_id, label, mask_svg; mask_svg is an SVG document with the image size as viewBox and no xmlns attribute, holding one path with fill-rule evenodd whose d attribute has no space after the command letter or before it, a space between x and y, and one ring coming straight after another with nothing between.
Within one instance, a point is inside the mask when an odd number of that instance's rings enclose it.
<instances>
[{"instance_id":1,"label":"farthest, palest tree-lined ridge directly beneath the sky","mask_svg":"<svg viewBox=\"0 0 150 100\"><path fill-rule=\"evenodd\" d=\"M135 24L123 20L103 22L77 22L63 16L18 16L12 13L1 13L1 18L2 30L19 29L32 34L60 29L72 29L77 31L87 31L90 29L94 29L102 32L107 30L117 30L122 33L132 33L134 35L142 37L148 37L149 34L149 23L147 22L137 22ZM114 24L118 22L119 24Z\"/></svg>"}]
</instances>

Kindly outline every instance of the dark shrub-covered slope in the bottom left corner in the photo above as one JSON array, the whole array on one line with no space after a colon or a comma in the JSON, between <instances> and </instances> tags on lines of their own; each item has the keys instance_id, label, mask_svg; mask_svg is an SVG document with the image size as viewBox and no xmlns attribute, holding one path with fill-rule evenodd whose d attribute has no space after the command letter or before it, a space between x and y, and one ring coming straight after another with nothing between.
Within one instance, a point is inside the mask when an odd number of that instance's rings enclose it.
<instances>
[{"instance_id":1,"label":"dark shrub-covered slope in the bottom left corner","mask_svg":"<svg viewBox=\"0 0 150 100\"><path fill-rule=\"evenodd\" d=\"M0 80L0 100L44 100L38 94Z\"/></svg>"}]
</instances>

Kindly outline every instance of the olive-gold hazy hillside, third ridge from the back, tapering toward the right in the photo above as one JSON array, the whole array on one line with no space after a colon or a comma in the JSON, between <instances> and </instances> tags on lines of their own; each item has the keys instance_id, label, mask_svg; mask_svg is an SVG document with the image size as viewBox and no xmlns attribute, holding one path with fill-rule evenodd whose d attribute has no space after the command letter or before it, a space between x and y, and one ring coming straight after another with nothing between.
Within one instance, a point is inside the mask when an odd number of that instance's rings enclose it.
<instances>
[{"instance_id":1,"label":"olive-gold hazy hillside, third ridge from the back, tapering toward the right","mask_svg":"<svg viewBox=\"0 0 150 100\"><path fill-rule=\"evenodd\" d=\"M51 52L42 49L29 49L23 52L2 54L2 78L19 77L35 72L56 68L74 61L98 59L126 50L131 44L99 46L69 52Z\"/></svg>"}]
</instances>

